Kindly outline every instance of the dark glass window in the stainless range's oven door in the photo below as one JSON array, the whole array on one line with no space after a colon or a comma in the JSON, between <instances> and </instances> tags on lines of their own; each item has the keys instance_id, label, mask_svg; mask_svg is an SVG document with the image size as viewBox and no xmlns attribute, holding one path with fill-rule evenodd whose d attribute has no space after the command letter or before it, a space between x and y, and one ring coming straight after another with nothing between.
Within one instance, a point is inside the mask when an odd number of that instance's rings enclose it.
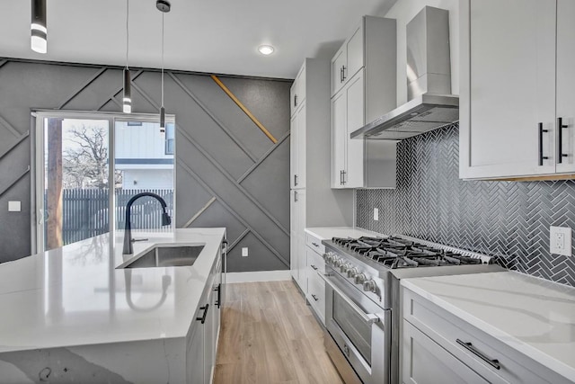
<instances>
[{"instance_id":1,"label":"dark glass window in the stainless range's oven door","mask_svg":"<svg viewBox=\"0 0 575 384\"><path fill-rule=\"evenodd\" d=\"M333 320L371 366L371 325L367 324L340 295L333 293Z\"/></svg>"}]
</instances>

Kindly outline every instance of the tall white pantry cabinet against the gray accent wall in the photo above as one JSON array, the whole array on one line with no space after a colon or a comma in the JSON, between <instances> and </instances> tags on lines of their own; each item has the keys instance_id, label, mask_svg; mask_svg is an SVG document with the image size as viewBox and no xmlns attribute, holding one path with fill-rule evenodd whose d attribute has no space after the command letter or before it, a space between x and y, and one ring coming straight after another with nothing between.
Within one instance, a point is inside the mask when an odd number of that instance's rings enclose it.
<instances>
[{"instance_id":1,"label":"tall white pantry cabinet against the gray accent wall","mask_svg":"<svg viewBox=\"0 0 575 384\"><path fill-rule=\"evenodd\" d=\"M331 189L330 60L305 58L291 87L291 275L307 294L305 228L353 225L353 192Z\"/></svg>"}]
</instances>

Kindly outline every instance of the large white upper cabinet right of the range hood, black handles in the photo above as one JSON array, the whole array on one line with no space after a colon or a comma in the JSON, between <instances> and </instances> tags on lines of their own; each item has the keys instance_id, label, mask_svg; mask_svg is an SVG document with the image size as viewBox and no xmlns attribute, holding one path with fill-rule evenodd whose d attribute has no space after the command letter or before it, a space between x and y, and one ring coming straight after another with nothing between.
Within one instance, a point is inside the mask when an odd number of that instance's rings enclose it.
<instances>
[{"instance_id":1,"label":"large white upper cabinet right of the range hood, black handles","mask_svg":"<svg viewBox=\"0 0 575 384\"><path fill-rule=\"evenodd\" d=\"M573 2L460 4L460 177L573 172Z\"/></svg>"}]
</instances>

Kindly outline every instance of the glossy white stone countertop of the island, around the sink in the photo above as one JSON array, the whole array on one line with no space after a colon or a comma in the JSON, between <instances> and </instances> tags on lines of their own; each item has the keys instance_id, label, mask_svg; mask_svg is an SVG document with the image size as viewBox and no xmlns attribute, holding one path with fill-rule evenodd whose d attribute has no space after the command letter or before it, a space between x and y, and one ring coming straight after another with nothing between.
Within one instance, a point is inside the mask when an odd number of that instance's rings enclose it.
<instances>
[{"instance_id":1,"label":"glossy white stone countertop of the island, around the sink","mask_svg":"<svg viewBox=\"0 0 575 384\"><path fill-rule=\"evenodd\" d=\"M185 337L226 228L123 231L0 264L0 353ZM116 269L155 245L205 245L191 266Z\"/></svg>"}]
</instances>

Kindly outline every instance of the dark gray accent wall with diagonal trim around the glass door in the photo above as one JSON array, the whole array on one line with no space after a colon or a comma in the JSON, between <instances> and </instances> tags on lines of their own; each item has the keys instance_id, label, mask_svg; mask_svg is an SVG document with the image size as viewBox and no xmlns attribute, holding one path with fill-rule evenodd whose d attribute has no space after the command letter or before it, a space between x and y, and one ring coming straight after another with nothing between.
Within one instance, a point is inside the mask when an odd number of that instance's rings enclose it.
<instances>
[{"instance_id":1,"label":"dark gray accent wall with diagonal trim around the glass door","mask_svg":"<svg viewBox=\"0 0 575 384\"><path fill-rule=\"evenodd\" d=\"M157 113L156 69L132 68L133 112ZM208 74L165 72L176 121L176 226L226 227L228 272L289 267L291 81L219 76L274 144ZM0 58L0 263L31 253L32 109L121 112L119 67ZM8 201L22 212L8 212ZM249 247L249 256L241 248Z\"/></svg>"}]
</instances>

